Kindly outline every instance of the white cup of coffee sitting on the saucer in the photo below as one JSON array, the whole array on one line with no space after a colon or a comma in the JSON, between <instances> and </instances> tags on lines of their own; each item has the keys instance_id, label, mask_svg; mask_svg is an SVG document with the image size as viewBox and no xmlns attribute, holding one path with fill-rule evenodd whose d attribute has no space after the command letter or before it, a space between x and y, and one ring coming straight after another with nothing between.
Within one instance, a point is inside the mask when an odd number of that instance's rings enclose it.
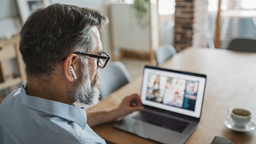
<instances>
[{"instance_id":1,"label":"white cup of coffee sitting on the saucer","mask_svg":"<svg viewBox=\"0 0 256 144\"><path fill-rule=\"evenodd\" d=\"M245 127L252 118L251 112L243 108L230 108L228 109L228 115L238 127Z\"/></svg>"}]
</instances>

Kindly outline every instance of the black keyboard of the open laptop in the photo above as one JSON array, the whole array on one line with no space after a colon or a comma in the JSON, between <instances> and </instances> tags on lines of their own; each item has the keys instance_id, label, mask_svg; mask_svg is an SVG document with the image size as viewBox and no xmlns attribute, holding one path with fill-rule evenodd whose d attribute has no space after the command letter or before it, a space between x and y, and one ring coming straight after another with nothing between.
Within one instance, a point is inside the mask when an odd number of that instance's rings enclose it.
<instances>
[{"instance_id":1,"label":"black keyboard of the open laptop","mask_svg":"<svg viewBox=\"0 0 256 144\"><path fill-rule=\"evenodd\" d=\"M148 122L150 124L168 128L170 130L174 130L180 133L183 132L186 129L186 127L189 125L188 122L182 122L180 120L167 118L165 116L152 114L146 111L139 112L133 118L137 120L142 120L144 122Z\"/></svg>"}]
</instances>

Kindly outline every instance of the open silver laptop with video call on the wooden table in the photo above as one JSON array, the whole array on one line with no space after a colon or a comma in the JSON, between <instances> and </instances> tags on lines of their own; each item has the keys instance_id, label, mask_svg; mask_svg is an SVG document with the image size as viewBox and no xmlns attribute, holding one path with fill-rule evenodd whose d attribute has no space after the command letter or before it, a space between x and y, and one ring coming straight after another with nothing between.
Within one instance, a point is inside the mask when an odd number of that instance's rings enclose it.
<instances>
[{"instance_id":1,"label":"open silver laptop with video call on the wooden table","mask_svg":"<svg viewBox=\"0 0 256 144\"><path fill-rule=\"evenodd\" d=\"M114 128L159 143L183 144L194 132L202 112L206 75L145 66L141 100Z\"/></svg>"}]
</instances>

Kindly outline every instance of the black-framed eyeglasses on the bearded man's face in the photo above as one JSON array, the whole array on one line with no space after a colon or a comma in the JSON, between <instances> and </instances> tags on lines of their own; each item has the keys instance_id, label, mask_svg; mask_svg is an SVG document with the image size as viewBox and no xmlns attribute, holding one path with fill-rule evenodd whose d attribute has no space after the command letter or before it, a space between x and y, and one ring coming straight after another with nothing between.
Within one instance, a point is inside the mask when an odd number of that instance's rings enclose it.
<instances>
[{"instance_id":1,"label":"black-framed eyeglasses on the bearded man's face","mask_svg":"<svg viewBox=\"0 0 256 144\"><path fill-rule=\"evenodd\" d=\"M90 56L91 58L97 58L97 64L100 68L104 68L110 60L110 56L106 52L102 52L100 55L86 54L83 52L73 52L74 54L82 54L84 56Z\"/></svg>"}]
</instances>

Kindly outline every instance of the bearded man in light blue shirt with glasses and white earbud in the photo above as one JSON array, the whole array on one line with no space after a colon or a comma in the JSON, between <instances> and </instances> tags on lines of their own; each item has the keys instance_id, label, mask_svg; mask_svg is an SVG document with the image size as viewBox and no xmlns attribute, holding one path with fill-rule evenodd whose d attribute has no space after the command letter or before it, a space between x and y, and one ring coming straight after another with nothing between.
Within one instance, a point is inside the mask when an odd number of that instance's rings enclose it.
<instances>
[{"instance_id":1,"label":"bearded man in light blue shirt with glasses and white earbud","mask_svg":"<svg viewBox=\"0 0 256 144\"><path fill-rule=\"evenodd\" d=\"M143 109L137 94L87 114L73 104L98 102L98 68L110 58L98 30L107 22L98 11L64 4L29 16L20 32L27 81L0 104L1 144L105 143L90 126Z\"/></svg>"}]
</instances>

